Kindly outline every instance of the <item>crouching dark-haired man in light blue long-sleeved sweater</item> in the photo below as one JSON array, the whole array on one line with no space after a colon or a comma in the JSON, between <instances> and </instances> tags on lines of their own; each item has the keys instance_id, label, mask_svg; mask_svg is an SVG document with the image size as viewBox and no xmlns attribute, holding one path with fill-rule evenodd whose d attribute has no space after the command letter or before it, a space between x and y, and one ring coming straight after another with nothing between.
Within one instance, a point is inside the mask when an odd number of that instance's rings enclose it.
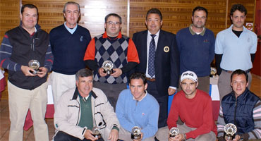
<instances>
[{"instance_id":1,"label":"crouching dark-haired man in light blue long-sleeved sweater","mask_svg":"<svg viewBox=\"0 0 261 141\"><path fill-rule=\"evenodd\" d=\"M158 130L159 104L148 94L144 73L130 75L130 89L123 90L116 104L116 116L120 121L120 140L132 140L134 126L141 128L140 140L153 140Z\"/></svg>"}]
</instances>

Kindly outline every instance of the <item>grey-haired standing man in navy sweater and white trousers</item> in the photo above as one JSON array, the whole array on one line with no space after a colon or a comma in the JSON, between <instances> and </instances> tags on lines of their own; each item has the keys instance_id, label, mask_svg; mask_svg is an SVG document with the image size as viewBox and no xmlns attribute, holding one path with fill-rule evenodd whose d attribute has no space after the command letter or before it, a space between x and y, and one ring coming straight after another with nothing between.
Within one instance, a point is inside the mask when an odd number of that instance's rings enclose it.
<instances>
[{"instance_id":1,"label":"grey-haired standing man in navy sweater and white trousers","mask_svg":"<svg viewBox=\"0 0 261 141\"><path fill-rule=\"evenodd\" d=\"M67 2L63 8L63 16L65 23L50 32L51 51L54 54L51 73L54 107L66 90L75 87L75 73L85 68L83 57L91 40L89 30L78 25L79 4Z\"/></svg>"}]
</instances>

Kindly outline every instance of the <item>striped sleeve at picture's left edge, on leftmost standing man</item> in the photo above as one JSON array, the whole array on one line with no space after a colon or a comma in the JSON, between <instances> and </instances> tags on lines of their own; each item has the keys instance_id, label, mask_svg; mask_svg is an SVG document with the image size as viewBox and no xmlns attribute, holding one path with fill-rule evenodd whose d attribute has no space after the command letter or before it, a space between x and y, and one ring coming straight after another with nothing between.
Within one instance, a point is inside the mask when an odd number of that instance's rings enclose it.
<instances>
[{"instance_id":1,"label":"striped sleeve at picture's left edge, on leftmost standing man","mask_svg":"<svg viewBox=\"0 0 261 141\"><path fill-rule=\"evenodd\" d=\"M21 65L11 61L13 47L8 39L8 35L4 35L4 39L0 48L0 67L10 71L21 71Z\"/></svg>"}]
</instances>

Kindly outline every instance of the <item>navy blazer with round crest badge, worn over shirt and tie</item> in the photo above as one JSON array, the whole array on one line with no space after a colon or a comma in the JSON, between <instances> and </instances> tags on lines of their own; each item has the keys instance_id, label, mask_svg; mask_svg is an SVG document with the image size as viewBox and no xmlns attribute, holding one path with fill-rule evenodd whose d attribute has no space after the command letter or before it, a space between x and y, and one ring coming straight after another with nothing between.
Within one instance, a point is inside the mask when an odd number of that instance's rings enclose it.
<instances>
[{"instance_id":1,"label":"navy blazer with round crest badge, worn over shirt and tie","mask_svg":"<svg viewBox=\"0 0 261 141\"><path fill-rule=\"evenodd\" d=\"M147 68L147 30L133 35L140 63L136 72L146 73ZM169 50L168 50L169 49ZM178 87L179 53L176 35L160 30L155 53L155 78L159 95L168 95L169 86Z\"/></svg>"}]
</instances>

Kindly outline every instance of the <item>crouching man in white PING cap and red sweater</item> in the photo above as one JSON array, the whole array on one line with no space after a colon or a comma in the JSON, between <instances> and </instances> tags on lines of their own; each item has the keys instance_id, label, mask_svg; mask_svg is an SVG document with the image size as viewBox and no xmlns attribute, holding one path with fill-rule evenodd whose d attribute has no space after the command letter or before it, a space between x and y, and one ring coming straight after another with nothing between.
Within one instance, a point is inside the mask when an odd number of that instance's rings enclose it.
<instances>
[{"instance_id":1,"label":"crouching man in white PING cap and red sweater","mask_svg":"<svg viewBox=\"0 0 261 141\"><path fill-rule=\"evenodd\" d=\"M216 140L217 126L212 114L212 99L209 94L198 90L198 76L193 71L186 71L181 75L181 91L173 98L167 124L169 128L179 129L176 137L169 137L169 141L181 140ZM183 125L177 125L178 116ZM166 139L165 139L166 140Z\"/></svg>"}]
</instances>

